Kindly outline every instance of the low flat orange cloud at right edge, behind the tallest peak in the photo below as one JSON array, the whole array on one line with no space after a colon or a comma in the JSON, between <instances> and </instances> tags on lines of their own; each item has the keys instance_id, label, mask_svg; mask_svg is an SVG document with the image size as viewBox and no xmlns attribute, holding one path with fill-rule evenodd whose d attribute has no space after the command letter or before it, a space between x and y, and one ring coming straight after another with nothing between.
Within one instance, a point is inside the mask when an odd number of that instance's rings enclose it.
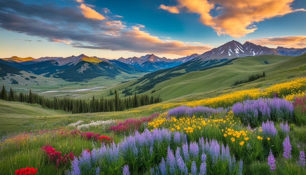
<instances>
[{"instance_id":1,"label":"low flat orange cloud at right edge, behind the tallest peak","mask_svg":"<svg viewBox=\"0 0 306 175\"><path fill-rule=\"evenodd\" d=\"M278 36L278 37L257 38L248 41L259 45L274 46L274 47L277 46L282 46L286 48L306 47L306 36Z\"/></svg>"}]
</instances>

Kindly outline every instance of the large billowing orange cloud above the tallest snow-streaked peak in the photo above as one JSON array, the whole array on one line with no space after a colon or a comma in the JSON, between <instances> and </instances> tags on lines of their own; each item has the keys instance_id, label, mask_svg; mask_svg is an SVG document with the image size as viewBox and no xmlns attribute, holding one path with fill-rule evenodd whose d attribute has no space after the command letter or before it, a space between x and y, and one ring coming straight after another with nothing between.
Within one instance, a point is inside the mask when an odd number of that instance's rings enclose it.
<instances>
[{"instance_id":1,"label":"large billowing orange cloud above the tallest snow-streaked peak","mask_svg":"<svg viewBox=\"0 0 306 175\"><path fill-rule=\"evenodd\" d=\"M245 36L254 32L254 23L305 9L293 9L294 0L177 0L179 9L200 15L200 22L212 27L218 35ZM167 9L164 9L167 10ZM222 13L212 16L212 10ZM168 10L169 11L169 10ZM172 12L171 12L172 13Z\"/></svg>"}]
</instances>

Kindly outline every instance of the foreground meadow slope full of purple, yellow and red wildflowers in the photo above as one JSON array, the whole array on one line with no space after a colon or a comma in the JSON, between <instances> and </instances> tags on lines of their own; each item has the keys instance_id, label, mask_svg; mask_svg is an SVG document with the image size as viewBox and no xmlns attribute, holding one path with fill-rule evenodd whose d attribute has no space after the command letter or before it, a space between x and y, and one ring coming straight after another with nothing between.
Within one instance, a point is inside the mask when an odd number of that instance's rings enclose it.
<instances>
[{"instance_id":1,"label":"foreground meadow slope full of purple, yellow and red wildflowers","mask_svg":"<svg viewBox=\"0 0 306 175\"><path fill-rule=\"evenodd\" d=\"M1 174L306 175L306 78L0 139ZM154 110L162 105L160 110Z\"/></svg>"}]
</instances>

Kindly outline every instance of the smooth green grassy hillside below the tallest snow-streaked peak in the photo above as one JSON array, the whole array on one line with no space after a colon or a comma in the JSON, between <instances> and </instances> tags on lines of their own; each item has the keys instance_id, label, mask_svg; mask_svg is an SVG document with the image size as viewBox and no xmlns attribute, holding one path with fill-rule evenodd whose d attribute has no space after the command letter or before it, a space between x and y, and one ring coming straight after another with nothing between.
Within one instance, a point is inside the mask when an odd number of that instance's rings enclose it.
<instances>
[{"instance_id":1,"label":"smooth green grassy hillside below the tallest snow-streaked peak","mask_svg":"<svg viewBox=\"0 0 306 175\"><path fill-rule=\"evenodd\" d=\"M232 61L232 64L216 67L203 71L194 71L187 74L171 78L160 82L155 85L153 89L156 90L152 95L162 97L164 100L182 97L194 93L204 93L214 90L220 90L224 88L232 88L231 85L235 80L246 79L249 75L266 72L266 78L260 78L252 84L260 87L263 86L262 82L278 82L282 79L289 77L298 77L304 74L303 67L306 65L304 61L306 55L297 57L282 56L282 55L260 55L238 58ZM136 86L143 85L144 82L129 87L135 81L120 84L115 87L95 91L92 93L84 94L82 97L89 98L92 95L95 97L107 96L110 89L120 89L122 92L125 88L135 88ZM238 85L238 87L246 86ZM160 89L160 90L159 90ZM151 89L152 90L152 89ZM151 94L151 90L145 92Z\"/></svg>"}]
</instances>

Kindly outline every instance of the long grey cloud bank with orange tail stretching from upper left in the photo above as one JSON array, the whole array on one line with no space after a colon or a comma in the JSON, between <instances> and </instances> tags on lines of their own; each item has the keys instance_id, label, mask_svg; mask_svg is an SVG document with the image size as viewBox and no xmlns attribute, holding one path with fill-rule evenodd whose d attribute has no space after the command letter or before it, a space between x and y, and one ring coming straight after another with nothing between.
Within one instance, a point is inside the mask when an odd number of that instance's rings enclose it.
<instances>
[{"instance_id":1,"label":"long grey cloud bank with orange tail stretching from upper left","mask_svg":"<svg viewBox=\"0 0 306 175\"><path fill-rule=\"evenodd\" d=\"M76 11L71 7L46 8L45 5L2 0L0 28L39 36L50 42L70 44L77 48L176 55L203 53L212 49L210 45L161 40L145 31L144 25L129 25L110 19L99 21Z\"/></svg>"}]
</instances>

